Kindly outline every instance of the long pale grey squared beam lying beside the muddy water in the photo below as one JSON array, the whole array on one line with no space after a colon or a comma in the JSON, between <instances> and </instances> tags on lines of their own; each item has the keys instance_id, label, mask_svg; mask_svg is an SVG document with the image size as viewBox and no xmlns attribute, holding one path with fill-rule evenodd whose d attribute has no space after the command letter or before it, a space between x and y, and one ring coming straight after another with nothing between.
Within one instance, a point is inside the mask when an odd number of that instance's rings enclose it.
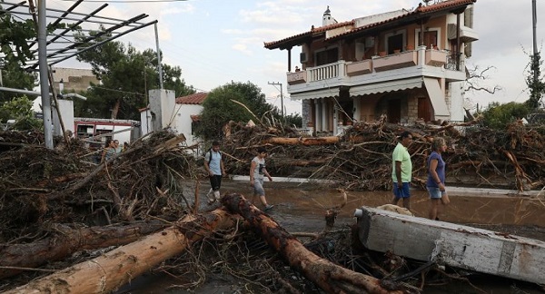
<instances>
[{"instance_id":1,"label":"long pale grey squared beam lying beside the muddy water","mask_svg":"<svg viewBox=\"0 0 545 294\"><path fill-rule=\"evenodd\" d=\"M545 242L362 207L359 240L369 250L534 283L545 280Z\"/></svg>"}]
</instances>

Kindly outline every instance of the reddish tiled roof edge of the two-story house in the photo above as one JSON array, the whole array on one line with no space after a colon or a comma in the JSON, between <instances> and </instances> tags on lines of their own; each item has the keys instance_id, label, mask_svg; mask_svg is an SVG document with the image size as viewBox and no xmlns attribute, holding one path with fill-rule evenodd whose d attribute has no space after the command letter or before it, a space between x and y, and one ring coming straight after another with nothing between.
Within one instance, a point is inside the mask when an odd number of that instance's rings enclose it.
<instances>
[{"instance_id":1,"label":"reddish tiled roof edge of the two-story house","mask_svg":"<svg viewBox=\"0 0 545 294\"><path fill-rule=\"evenodd\" d=\"M450 9L455 9L455 8L460 8L460 7L463 7L463 6L471 5L471 4L475 3L475 2L477 2L477 0L446 0L446 1L436 3L436 4L433 4L433 5L422 5L422 4L420 4L416 9L414 9L411 12L408 12L407 14L391 17L389 19L386 19L386 20L383 20L383 21L380 21L380 22L377 22L377 23L373 23L373 24L370 24L370 25L363 25L363 26L360 26L360 27L357 27L357 28L353 28L352 30L350 30L348 32L344 32L342 34L336 34L336 35L332 36L331 38L328 38L326 41L338 39L338 38L340 38L342 36L349 35L349 34L354 34L354 33L357 33L357 32L361 32L361 31L364 31L364 30L367 30L367 29L371 29L373 27L386 25L388 23L391 23L391 22L394 22L394 21L397 21L397 20L401 20L403 18L414 17L414 16L418 16L418 15L429 15L431 13L441 12L441 11L448 11ZM283 47L299 45L299 44L302 44L303 42L298 42L298 41L302 41L305 37L309 37L309 36L312 36L313 34L317 34L317 33L325 33L327 30L331 30L333 28L346 26L346 25L354 25L354 24L355 24L355 21L352 20L352 21L349 21L349 22L344 22L344 23L339 23L339 24L334 24L334 25L325 25L325 26L321 26L321 27L318 27L318 28L312 27L311 31L309 31L309 32L292 35L291 37L287 37L287 38L284 38L284 39L279 40L279 41L273 41L273 42L268 42L268 43L266 42L264 44L265 44L265 48L268 48L268 49L276 49L276 48L281 48L281 47L283 48Z\"/></svg>"}]
</instances>

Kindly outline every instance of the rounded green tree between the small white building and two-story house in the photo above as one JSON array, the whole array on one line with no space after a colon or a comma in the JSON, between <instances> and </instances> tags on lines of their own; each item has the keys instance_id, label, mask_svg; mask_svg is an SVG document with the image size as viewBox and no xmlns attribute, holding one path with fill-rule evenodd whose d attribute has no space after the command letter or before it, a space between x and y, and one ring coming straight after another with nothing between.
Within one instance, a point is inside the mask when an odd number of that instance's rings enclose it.
<instances>
[{"instance_id":1,"label":"rounded green tree between the small white building and two-story house","mask_svg":"<svg viewBox=\"0 0 545 294\"><path fill-rule=\"evenodd\" d=\"M265 94L253 83L226 83L213 89L203 103L201 120L195 132L204 140L219 139L222 137L222 127L225 123L255 121L252 113L248 112L242 105L262 119L266 113L271 113L279 118L278 109L270 103L266 103Z\"/></svg>"}]
</instances>

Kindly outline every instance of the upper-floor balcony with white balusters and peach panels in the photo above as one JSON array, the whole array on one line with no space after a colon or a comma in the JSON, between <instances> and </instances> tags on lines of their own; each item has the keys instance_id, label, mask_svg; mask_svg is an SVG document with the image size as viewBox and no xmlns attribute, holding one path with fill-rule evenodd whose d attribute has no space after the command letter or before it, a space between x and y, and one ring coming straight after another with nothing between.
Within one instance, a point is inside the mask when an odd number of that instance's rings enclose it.
<instances>
[{"instance_id":1,"label":"upper-floor balcony with white balusters and peach panels","mask_svg":"<svg viewBox=\"0 0 545 294\"><path fill-rule=\"evenodd\" d=\"M289 93L295 94L299 99L306 99L315 97L312 92L316 91L328 95L334 93L334 87L352 87L417 77L445 79L447 82L464 81L465 65L463 60L458 61L455 54L448 51L420 46L416 50L372 56L372 59L362 61L340 60L333 64L307 67L301 72L287 73L287 82Z\"/></svg>"}]
</instances>

